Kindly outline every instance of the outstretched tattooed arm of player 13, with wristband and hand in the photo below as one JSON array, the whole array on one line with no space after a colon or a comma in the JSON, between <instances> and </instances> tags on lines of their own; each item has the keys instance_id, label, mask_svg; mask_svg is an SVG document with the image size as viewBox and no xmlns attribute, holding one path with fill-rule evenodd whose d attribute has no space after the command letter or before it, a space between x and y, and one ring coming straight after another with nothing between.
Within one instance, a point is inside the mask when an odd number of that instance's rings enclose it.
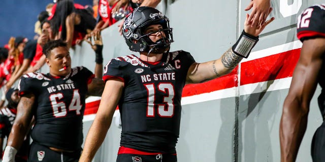
<instances>
[{"instance_id":1,"label":"outstretched tattooed arm of player 13, with wristband and hand","mask_svg":"<svg viewBox=\"0 0 325 162\"><path fill-rule=\"evenodd\" d=\"M270 8L269 13L271 11L272 8ZM251 23L248 22L248 17L249 15L247 14L244 31L236 44L217 60L193 63L187 72L187 83L201 83L228 74L238 65L243 57L248 57L250 50L258 41L259 33L274 20L274 18L271 18L263 25L251 26Z\"/></svg>"}]
</instances>

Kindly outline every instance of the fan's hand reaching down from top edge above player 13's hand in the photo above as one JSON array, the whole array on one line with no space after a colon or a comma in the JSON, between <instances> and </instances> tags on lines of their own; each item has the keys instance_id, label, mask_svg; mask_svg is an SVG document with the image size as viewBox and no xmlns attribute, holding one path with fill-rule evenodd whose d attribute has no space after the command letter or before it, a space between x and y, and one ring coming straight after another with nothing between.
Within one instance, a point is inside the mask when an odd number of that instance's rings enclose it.
<instances>
[{"instance_id":1,"label":"fan's hand reaching down from top edge above player 13's hand","mask_svg":"<svg viewBox=\"0 0 325 162\"><path fill-rule=\"evenodd\" d=\"M245 11L253 8L248 18L248 22L251 22L251 26L259 26L265 23L269 15L270 6L270 0L252 0L249 3Z\"/></svg>"}]
</instances>

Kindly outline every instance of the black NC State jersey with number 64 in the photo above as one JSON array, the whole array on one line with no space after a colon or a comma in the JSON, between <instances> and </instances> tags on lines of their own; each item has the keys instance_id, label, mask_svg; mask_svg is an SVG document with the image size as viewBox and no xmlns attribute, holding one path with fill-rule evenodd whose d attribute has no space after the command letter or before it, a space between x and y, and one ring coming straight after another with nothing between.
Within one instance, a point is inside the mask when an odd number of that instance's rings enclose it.
<instances>
[{"instance_id":1,"label":"black NC State jersey with number 64","mask_svg":"<svg viewBox=\"0 0 325 162\"><path fill-rule=\"evenodd\" d=\"M21 77L19 95L31 92L36 96L36 124L31 131L34 142L63 150L80 149L85 95L91 76L91 71L80 66L72 68L64 78L42 73Z\"/></svg>"}]
</instances>

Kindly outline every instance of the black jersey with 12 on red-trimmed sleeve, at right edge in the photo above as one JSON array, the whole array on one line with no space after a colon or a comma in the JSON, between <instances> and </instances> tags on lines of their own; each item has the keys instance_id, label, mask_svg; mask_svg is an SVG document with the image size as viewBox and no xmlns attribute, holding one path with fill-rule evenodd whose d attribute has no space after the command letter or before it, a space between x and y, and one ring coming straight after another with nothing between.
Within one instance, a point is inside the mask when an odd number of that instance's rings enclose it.
<instances>
[{"instance_id":1,"label":"black jersey with 12 on red-trimmed sleeve, at right edge","mask_svg":"<svg viewBox=\"0 0 325 162\"><path fill-rule=\"evenodd\" d=\"M325 37L325 4L311 6L298 16L297 36L302 42L308 38ZM325 71L324 63L320 71L322 73ZM318 105L322 116L325 117L325 75L319 74L318 83L322 88L318 97Z\"/></svg>"}]
</instances>

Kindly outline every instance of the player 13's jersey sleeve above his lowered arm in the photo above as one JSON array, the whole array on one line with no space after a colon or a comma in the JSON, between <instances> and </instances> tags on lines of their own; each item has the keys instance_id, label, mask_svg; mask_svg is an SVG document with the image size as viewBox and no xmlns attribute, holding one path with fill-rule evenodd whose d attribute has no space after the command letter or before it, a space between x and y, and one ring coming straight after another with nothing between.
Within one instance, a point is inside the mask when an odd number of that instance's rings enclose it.
<instances>
[{"instance_id":1,"label":"player 13's jersey sleeve above his lowered arm","mask_svg":"<svg viewBox=\"0 0 325 162\"><path fill-rule=\"evenodd\" d=\"M104 68L103 80L106 82L110 78L119 78L124 82L123 67L125 62L112 59Z\"/></svg>"}]
</instances>

